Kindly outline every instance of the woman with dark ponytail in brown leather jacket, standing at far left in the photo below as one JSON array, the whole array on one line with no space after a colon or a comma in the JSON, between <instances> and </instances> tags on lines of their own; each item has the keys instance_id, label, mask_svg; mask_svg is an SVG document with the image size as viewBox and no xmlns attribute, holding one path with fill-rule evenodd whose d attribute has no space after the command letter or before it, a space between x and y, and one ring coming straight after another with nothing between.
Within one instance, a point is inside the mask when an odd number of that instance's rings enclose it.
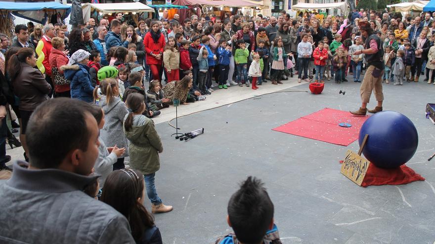
<instances>
[{"instance_id":1,"label":"woman with dark ponytail in brown leather jacket, standing at far left","mask_svg":"<svg viewBox=\"0 0 435 244\"><path fill-rule=\"evenodd\" d=\"M20 99L19 113L20 141L24 148L24 158L27 158L26 128L30 115L36 107L48 100L51 86L45 81L40 70L35 69L36 57L32 48L23 47L7 61L7 74L13 86L15 96Z\"/></svg>"}]
</instances>

